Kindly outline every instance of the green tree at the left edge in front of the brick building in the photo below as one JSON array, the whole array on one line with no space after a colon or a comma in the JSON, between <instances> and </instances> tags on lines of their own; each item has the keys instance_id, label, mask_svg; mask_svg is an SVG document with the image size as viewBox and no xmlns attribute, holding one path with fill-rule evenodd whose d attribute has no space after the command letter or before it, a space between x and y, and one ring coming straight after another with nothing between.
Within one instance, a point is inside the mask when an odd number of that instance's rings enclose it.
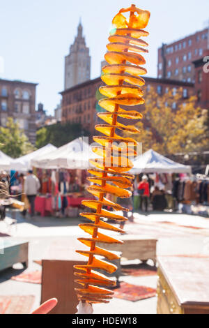
<instances>
[{"instance_id":1,"label":"green tree at the left edge in front of the brick building","mask_svg":"<svg viewBox=\"0 0 209 328\"><path fill-rule=\"evenodd\" d=\"M8 117L6 128L0 127L0 149L10 157L17 158L35 150L24 131L12 117Z\"/></svg>"}]
</instances>

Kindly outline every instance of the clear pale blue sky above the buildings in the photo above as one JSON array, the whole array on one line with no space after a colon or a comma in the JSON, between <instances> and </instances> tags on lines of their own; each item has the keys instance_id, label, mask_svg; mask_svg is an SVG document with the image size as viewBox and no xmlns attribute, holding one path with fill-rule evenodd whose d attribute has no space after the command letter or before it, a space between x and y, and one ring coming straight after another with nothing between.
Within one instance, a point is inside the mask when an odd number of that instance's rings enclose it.
<instances>
[{"instance_id":1,"label":"clear pale blue sky above the buildings","mask_svg":"<svg viewBox=\"0 0 209 328\"><path fill-rule=\"evenodd\" d=\"M91 78L100 75L100 61L120 8L130 6L151 12L148 76L157 74L157 47L206 27L208 0L0 0L1 78L38 82L36 105L42 102L53 113L63 90L64 56L82 17L91 54Z\"/></svg>"}]
</instances>

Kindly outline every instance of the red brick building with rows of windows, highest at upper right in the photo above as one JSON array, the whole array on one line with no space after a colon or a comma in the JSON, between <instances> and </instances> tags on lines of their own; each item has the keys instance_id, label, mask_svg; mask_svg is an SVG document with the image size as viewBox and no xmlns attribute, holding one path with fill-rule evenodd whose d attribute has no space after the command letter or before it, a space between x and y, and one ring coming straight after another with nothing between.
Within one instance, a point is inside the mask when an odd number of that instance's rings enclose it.
<instances>
[{"instance_id":1,"label":"red brick building with rows of windows, highest at upper right","mask_svg":"<svg viewBox=\"0 0 209 328\"><path fill-rule=\"evenodd\" d=\"M194 83L192 62L201 59L206 49L209 49L209 29L163 44L158 49L157 77Z\"/></svg>"}]
</instances>

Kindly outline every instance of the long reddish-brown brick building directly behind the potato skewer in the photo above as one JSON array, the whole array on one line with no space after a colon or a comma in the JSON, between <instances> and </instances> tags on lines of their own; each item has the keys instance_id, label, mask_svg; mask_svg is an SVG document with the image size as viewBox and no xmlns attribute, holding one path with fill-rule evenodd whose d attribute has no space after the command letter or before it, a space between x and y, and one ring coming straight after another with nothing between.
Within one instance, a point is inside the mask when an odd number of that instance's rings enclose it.
<instances>
[{"instance_id":1,"label":"long reddish-brown brick building directly behind the potato skewer","mask_svg":"<svg viewBox=\"0 0 209 328\"><path fill-rule=\"evenodd\" d=\"M144 80L146 81L144 88L150 89L153 87L160 96L169 91L169 89L175 94L178 88L183 89L183 101L185 98L194 94L193 83L157 79L153 77L144 77ZM96 113L105 111L98 105L98 100L101 96L98 89L101 85L102 80L98 77L62 91L62 121L81 123L82 126L92 134L95 124L99 122ZM173 102L172 107L173 110L176 110L177 104ZM141 111L143 111L143 105L141 105L140 108Z\"/></svg>"}]
</instances>

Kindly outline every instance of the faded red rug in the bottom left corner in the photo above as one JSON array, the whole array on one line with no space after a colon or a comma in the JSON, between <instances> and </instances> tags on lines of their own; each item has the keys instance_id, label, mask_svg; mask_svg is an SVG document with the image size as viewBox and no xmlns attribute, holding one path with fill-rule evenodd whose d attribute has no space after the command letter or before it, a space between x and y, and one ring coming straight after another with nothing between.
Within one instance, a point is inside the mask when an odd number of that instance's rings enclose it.
<instances>
[{"instance_id":1,"label":"faded red rug in the bottom left corner","mask_svg":"<svg viewBox=\"0 0 209 328\"><path fill-rule=\"evenodd\" d=\"M28 314L35 296L0 296L0 314Z\"/></svg>"}]
</instances>

